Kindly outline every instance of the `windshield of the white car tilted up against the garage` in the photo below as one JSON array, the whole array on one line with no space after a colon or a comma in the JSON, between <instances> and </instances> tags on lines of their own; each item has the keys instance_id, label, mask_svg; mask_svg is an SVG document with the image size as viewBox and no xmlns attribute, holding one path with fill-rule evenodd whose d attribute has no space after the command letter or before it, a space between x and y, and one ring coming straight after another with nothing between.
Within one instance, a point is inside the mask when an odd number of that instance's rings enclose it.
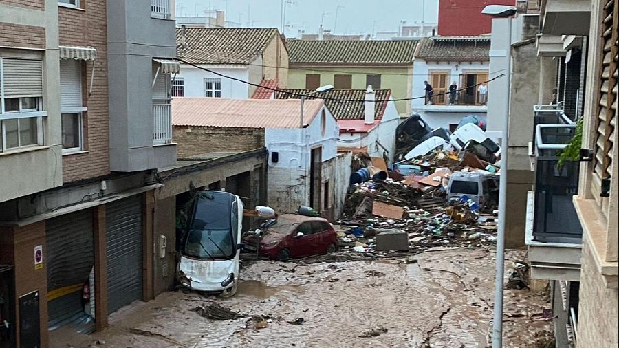
<instances>
[{"instance_id":1,"label":"windshield of the white car tilted up against the garage","mask_svg":"<svg viewBox=\"0 0 619 348\"><path fill-rule=\"evenodd\" d=\"M190 230L184 253L197 259L232 259L235 254L230 230Z\"/></svg>"}]
</instances>

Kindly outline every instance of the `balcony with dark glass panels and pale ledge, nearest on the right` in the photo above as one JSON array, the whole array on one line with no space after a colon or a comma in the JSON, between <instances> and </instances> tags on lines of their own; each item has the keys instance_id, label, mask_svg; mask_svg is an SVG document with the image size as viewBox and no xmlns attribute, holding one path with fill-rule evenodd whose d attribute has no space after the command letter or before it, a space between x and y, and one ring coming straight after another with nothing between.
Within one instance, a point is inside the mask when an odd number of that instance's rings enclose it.
<instances>
[{"instance_id":1,"label":"balcony with dark glass panels and pale ledge, nearest on the right","mask_svg":"<svg viewBox=\"0 0 619 348\"><path fill-rule=\"evenodd\" d=\"M579 162L558 164L576 125L560 105L534 107L534 189L528 193L525 243L532 278L578 281L583 229L572 196L578 193Z\"/></svg>"}]
</instances>

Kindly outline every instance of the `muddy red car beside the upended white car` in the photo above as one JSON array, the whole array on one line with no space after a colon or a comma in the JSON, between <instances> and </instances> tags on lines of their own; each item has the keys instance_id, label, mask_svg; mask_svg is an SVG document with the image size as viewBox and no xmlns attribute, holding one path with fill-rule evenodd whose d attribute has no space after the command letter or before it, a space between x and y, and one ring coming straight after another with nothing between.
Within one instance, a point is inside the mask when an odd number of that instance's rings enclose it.
<instances>
[{"instance_id":1,"label":"muddy red car beside the upended white car","mask_svg":"<svg viewBox=\"0 0 619 348\"><path fill-rule=\"evenodd\" d=\"M321 217L284 214L260 235L243 237L245 249L258 252L259 257L286 261L290 258L325 254L338 250L338 235Z\"/></svg>"}]
</instances>

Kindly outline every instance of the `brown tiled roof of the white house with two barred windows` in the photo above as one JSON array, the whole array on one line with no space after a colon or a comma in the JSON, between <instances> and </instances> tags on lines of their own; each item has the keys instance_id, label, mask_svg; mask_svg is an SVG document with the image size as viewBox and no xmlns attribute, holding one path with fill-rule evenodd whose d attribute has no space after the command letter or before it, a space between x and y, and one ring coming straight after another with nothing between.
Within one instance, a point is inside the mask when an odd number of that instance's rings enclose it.
<instances>
[{"instance_id":1,"label":"brown tiled roof of the white house with two barred windows","mask_svg":"<svg viewBox=\"0 0 619 348\"><path fill-rule=\"evenodd\" d=\"M176 28L177 56L194 64L249 64L276 34L276 28Z\"/></svg>"}]
</instances>

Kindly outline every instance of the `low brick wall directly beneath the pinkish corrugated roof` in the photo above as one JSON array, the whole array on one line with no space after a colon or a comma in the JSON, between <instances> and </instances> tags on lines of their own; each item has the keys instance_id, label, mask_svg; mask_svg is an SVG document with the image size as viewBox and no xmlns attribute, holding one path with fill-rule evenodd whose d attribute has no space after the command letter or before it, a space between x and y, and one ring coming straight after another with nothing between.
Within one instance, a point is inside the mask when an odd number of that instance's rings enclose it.
<instances>
[{"instance_id":1,"label":"low brick wall directly beneath the pinkish corrugated roof","mask_svg":"<svg viewBox=\"0 0 619 348\"><path fill-rule=\"evenodd\" d=\"M264 147L264 129L232 127L174 127L177 157L210 152L250 151Z\"/></svg>"}]
</instances>

